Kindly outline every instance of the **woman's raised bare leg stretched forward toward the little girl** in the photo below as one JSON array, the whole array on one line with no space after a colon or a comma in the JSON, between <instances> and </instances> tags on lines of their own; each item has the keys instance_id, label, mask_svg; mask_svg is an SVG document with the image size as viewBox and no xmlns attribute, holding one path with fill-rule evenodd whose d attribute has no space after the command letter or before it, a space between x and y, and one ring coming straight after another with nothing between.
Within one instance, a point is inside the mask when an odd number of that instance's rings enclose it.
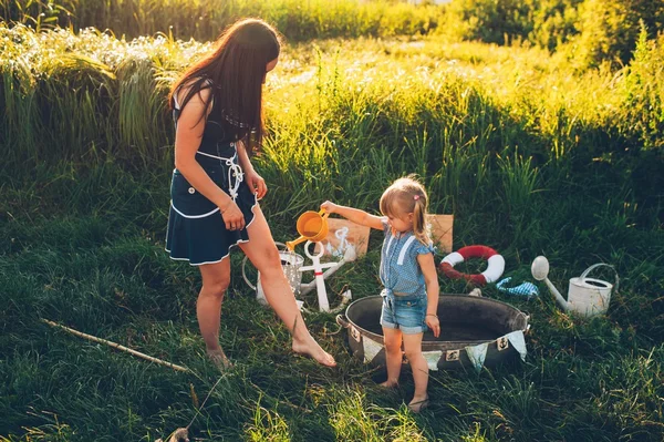
<instances>
[{"instance_id":1,"label":"woman's raised bare leg stretched forward toward the little girl","mask_svg":"<svg viewBox=\"0 0 664 442\"><path fill-rule=\"evenodd\" d=\"M318 345L307 329L293 291L283 275L272 233L259 206L253 209L253 222L247 228L250 240L239 246L260 271L260 284L268 302L293 337L293 351L309 354L324 366L334 367L334 358Z\"/></svg>"}]
</instances>

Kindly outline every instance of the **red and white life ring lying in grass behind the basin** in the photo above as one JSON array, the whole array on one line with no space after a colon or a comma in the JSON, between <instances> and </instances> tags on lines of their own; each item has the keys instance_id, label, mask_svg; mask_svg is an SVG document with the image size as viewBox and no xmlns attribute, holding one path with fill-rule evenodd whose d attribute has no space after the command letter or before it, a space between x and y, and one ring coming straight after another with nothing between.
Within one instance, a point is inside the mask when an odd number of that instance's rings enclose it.
<instances>
[{"instance_id":1,"label":"red and white life ring lying in grass behind the basin","mask_svg":"<svg viewBox=\"0 0 664 442\"><path fill-rule=\"evenodd\" d=\"M485 271L478 275L461 274L454 269L459 263L469 258L483 258L489 263ZM500 278L505 270L505 258L498 251L487 246L467 246L453 251L440 261L440 270L450 279L464 278L476 286L484 286L487 282L495 282Z\"/></svg>"}]
</instances>

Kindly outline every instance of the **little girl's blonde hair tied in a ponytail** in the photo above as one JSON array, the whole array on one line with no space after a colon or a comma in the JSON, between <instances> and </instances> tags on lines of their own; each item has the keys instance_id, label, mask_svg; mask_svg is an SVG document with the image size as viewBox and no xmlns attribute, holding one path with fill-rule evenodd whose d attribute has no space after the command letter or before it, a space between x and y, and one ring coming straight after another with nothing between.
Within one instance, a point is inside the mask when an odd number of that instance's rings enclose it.
<instances>
[{"instance_id":1,"label":"little girl's blonde hair tied in a ponytail","mask_svg":"<svg viewBox=\"0 0 664 442\"><path fill-rule=\"evenodd\" d=\"M398 178L383 192L381 213L384 216L396 218L412 213L415 237L425 246L430 244L432 239L426 225L428 196L424 186L413 175Z\"/></svg>"}]
</instances>

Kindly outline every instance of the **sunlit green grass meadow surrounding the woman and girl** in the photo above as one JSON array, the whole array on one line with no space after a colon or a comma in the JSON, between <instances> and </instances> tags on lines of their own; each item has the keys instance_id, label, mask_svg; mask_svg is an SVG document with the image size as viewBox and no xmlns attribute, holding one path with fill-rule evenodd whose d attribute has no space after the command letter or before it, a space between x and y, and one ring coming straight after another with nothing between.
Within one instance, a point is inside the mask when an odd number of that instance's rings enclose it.
<instances>
[{"instance_id":1,"label":"sunlit green grass meadow surrounding the woman and girl","mask_svg":"<svg viewBox=\"0 0 664 442\"><path fill-rule=\"evenodd\" d=\"M543 285L531 301L486 287L531 315L526 362L433 373L433 403L414 415L409 377L382 391L333 315L307 321L339 367L293 356L242 281L239 251L221 328L236 369L217 383L195 318L200 277L164 251L165 96L208 43L0 23L0 441L155 441L191 420L208 441L661 441L663 44L642 34L623 69L584 71L542 49L443 35L284 47L253 158L277 240L325 199L375 212L392 179L417 173L432 212L455 215L455 248L496 248L506 276L531 279L543 254L563 292L594 263L621 277L592 319L564 315ZM367 256L328 281L332 305L345 288L377 294L380 245L374 234ZM469 290L445 277L440 288Z\"/></svg>"}]
</instances>

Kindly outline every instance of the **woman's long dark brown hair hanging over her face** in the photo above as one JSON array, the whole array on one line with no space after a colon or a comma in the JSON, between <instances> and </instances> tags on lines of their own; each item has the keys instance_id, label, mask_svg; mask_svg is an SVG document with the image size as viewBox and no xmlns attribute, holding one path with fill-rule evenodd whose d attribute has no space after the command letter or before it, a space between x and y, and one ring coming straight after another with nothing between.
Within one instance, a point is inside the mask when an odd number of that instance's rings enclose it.
<instances>
[{"instance_id":1,"label":"woman's long dark brown hair hanging over her face","mask_svg":"<svg viewBox=\"0 0 664 442\"><path fill-rule=\"evenodd\" d=\"M263 134L262 83L266 65L279 56L280 37L277 30L260 19L243 19L231 24L217 39L215 50L189 66L173 84L168 95L174 109L174 94L186 85L183 109L201 90L210 89L205 102L205 119L212 103L219 109L225 126L236 140L251 135L257 147ZM247 146L249 153L251 146Z\"/></svg>"}]
</instances>

